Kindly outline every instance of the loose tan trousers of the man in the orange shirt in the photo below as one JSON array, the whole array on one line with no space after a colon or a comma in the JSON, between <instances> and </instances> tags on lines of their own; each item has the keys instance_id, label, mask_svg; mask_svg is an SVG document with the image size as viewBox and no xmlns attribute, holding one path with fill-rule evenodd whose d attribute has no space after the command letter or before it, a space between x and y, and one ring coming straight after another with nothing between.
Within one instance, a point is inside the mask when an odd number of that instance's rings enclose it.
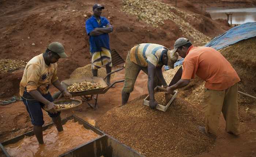
<instances>
[{"instance_id":1,"label":"loose tan trousers of the man in the orange shirt","mask_svg":"<svg viewBox=\"0 0 256 157\"><path fill-rule=\"evenodd\" d=\"M203 99L206 133L217 134L222 112L226 120L226 131L239 134L237 90L237 83L223 91L206 89Z\"/></svg>"}]
</instances>

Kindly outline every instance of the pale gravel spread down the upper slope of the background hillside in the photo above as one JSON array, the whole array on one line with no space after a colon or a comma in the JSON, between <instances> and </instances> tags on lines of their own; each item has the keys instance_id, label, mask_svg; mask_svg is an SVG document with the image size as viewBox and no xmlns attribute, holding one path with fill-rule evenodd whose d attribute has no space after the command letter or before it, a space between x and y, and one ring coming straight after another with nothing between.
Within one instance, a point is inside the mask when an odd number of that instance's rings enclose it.
<instances>
[{"instance_id":1,"label":"pale gravel spread down the upper slope of the background hillside","mask_svg":"<svg viewBox=\"0 0 256 157\"><path fill-rule=\"evenodd\" d=\"M196 41L201 43L210 41L209 37L196 30L189 23L189 18L197 23L202 22L202 18L197 18L195 14L189 14L166 3L147 0L123 0L123 11L137 16L138 19L143 20L153 27L158 27L158 25L163 26L165 24L164 21L167 19L172 20L177 24L182 33L191 38L195 38ZM188 22L186 22L187 20Z\"/></svg>"}]
</instances>

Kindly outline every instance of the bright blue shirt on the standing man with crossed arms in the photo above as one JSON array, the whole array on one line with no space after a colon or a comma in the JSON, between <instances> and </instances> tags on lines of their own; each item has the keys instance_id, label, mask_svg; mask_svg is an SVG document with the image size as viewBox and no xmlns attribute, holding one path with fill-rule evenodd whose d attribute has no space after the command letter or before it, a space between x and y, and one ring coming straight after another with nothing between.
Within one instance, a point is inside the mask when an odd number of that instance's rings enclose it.
<instances>
[{"instance_id":1,"label":"bright blue shirt on the standing man with crossed arms","mask_svg":"<svg viewBox=\"0 0 256 157\"><path fill-rule=\"evenodd\" d=\"M89 19L86 20L85 28L86 28L87 35L89 35L90 32L94 30L94 28L106 28L107 25L110 24L105 17L101 16L100 18L101 18L100 23L97 22L97 19L94 16L91 16ZM97 36L90 35L89 43L90 43L91 53L102 51L101 47L104 47L110 50L108 33L104 33Z\"/></svg>"}]
</instances>

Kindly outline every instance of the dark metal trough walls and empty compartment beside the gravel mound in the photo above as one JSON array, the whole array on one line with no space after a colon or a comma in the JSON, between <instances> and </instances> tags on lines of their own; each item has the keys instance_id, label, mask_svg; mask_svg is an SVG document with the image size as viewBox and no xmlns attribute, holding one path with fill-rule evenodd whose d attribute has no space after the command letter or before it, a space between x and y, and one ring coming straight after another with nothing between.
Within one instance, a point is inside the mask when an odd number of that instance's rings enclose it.
<instances>
[{"instance_id":1,"label":"dark metal trough walls and empty compartment beside the gravel mound","mask_svg":"<svg viewBox=\"0 0 256 157\"><path fill-rule=\"evenodd\" d=\"M128 146L120 143L117 141L117 139L114 139L110 137L109 135L103 133L101 130L95 128L94 126L90 125L83 119L80 119L79 117L72 115L66 119L62 120L62 124L65 124L68 120L74 119L75 122L78 122L79 124L82 124L84 128L88 130L92 130L100 137L95 138L87 143L84 143L83 145L80 145L76 147L75 149L70 150L67 153L61 154L59 157L144 157L143 155L139 154L135 150L129 148ZM52 124L46 125L43 127L43 130L48 129L48 127L52 126ZM5 156L10 157L8 152L5 150L4 146L16 143L20 139L24 138L25 136L32 136L34 135L33 131L30 131L28 133L25 133L23 135L14 137L12 139L9 139L7 141L4 141L3 143L0 143L0 147L2 151L4 152Z\"/></svg>"}]
</instances>

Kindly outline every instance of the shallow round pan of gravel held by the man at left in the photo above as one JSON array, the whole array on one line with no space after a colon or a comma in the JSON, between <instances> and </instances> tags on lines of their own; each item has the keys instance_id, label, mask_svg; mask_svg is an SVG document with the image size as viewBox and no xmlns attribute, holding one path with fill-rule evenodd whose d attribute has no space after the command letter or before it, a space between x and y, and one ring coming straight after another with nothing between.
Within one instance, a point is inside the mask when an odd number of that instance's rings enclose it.
<instances>
[{"instance_id":1,"label":"shallow round pan of gravel held by the man at left","mask_svg":"<svg viewBox=\"0 0 256 157\"><path fill-rule=\"evenodd\" d=\"M63 99L63 100L57 100L53 102L58 106L56 108L56 111L64 111L64 110L70 110L75 107L78 107L82 104L82 100L79 99ZM48 108L44 106L44 110L48 111Z\"/></svg>"}]
</instances>

